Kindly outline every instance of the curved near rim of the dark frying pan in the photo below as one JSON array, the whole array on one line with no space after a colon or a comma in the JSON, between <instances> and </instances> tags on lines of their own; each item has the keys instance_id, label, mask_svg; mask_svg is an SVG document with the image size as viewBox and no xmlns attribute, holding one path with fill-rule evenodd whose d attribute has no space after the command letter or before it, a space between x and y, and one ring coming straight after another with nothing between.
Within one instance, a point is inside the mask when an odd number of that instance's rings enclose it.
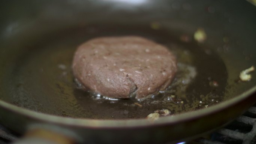
<instances>
[{"instance_id":1,"label":"curved near rim of the dark frying pan","mask_svg":"<svg viewBox=\"0 0 256 144\"><path fill-rule=\"evenodd\" d=\"M152 121L148 119L87 119L87 118L72 118L63 117L52 114L40 113L27 108L18 107L14 104L10 104L3 100L0 100L0 107L7 109L7 111L12 111L13 113L21 114L22 116L29 117L35 120L40 120L42 122L56 123L61 125L69 126L82 126L86 128L132 128L141 126L156 126L156 125L166 125L175 124L191 119L196 119L198 117L203 117L206 115L213 114L217 111L221 111L231 105L234 105L243 99L246 99L256 92L256 85L249 90L243 92L234 98L228 99L226 101L220 102L219 104L210 106L208 108L202 108L195 111L189 111L174 116L160 117L158 120Z\"/></svg>"}]
</instances>

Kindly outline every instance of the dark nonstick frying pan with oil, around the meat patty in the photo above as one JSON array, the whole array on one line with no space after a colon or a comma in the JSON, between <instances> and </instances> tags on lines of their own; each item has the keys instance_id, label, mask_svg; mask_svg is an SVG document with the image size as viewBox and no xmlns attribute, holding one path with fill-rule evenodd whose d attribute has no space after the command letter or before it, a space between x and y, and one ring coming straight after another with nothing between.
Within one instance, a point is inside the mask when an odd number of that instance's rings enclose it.
<instances>
[{"instance_id":1,"label":"dark nonstick frying pan with oil, around the meat patty","mask_svg":"<svg viewBox=\"0 0 256 144\"><path fill-rule=\"evenodd\" d=\"M176 143L226 125L256 102L255 72L248 82L238 77L256 64L256 8L247 1L17 0L0 6L0 122L26 133L17 143ZM193 40L198 28L207 34L203 43ZM97 100L77 89L70 68L77 46L123 35L167 46L196 76L145 101ZM178 78L184 77L178 72L174 83ZM176 98L168 101L171 94ZM162 108L171 116L145 118Z\"/></svg>"}]
</instances>

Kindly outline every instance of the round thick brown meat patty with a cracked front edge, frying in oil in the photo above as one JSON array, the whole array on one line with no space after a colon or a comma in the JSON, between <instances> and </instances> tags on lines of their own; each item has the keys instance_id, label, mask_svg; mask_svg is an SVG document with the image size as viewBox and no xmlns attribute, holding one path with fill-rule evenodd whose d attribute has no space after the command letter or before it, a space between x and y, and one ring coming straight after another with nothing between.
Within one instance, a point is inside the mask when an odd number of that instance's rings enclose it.
<instances>
[{"instance_id":1,"label":"round thick brown meat patty with a cracked front edge, frying in oil","mask_svg":"<svg viewBox=\"0 0 256 144\"><path fill-rule=\"evenodd\" d=\"M138 36L99 37L76 50L73 73L92 92L111 98L135 98L164 90L177 71L165 47Z\"/></svg>"}]
</instances>

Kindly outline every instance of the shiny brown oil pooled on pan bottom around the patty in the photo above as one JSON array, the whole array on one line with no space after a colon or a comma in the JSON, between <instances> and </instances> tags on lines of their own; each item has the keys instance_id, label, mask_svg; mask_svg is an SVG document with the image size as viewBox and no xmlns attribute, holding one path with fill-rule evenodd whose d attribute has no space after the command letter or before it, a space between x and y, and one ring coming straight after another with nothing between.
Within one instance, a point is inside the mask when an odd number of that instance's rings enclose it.
<instances>
[{"instance_id":1,"label":"shiny brown oil pooled on pan bottom around the patty","mask_svg":"<svg viewBox=\"0 0 256 144\"><path fill-rule=\"evenodd\" d=\"M77 46L99 36L137 35L167 46L178 72L166 91L152 98L110 100L77 88L71 62ZM217 54L196 42L183 42L166 30L150 27L92 25L42 37L17 59L4 100L42 113L92 119L144 118L155 110L171 114L207 108L222 101L226 67ZM13 87L14 86L14 87ZM9 88L9 87L8 87Z\"/></svg>"}]
</instances>

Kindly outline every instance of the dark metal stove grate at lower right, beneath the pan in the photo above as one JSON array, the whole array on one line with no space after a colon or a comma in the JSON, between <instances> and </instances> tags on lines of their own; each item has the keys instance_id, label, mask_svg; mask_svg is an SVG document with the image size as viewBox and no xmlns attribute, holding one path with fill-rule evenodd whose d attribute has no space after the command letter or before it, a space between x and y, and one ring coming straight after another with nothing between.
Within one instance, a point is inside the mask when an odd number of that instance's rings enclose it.
<instances>
[{"instance_id":1,"label":"dark metal stove grate at lower right, beneath the pan","mask_svg":"<svg viewBox=\"0 0 256 144\"><path fill-rule=\"evenodd\" d=\"M225 128L214 132L211 139L201 138L188 144L256 144L256 105Z\"/></svg>"}]
</instances>

